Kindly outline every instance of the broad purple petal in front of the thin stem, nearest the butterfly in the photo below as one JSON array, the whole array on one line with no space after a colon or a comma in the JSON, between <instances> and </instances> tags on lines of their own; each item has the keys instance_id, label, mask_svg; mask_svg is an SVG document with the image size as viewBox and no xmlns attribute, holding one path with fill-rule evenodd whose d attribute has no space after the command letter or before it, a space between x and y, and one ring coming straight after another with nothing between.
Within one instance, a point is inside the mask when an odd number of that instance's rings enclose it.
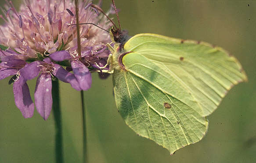
<instances>
[{"instance_id":1,"label":"broad purple petal in front of the thin stem, nearest the butterfly","mask_svg":"<svg viewBox=\"0 0 256 163\"><path fill-rule=\"evenodd\" d=\"M88 90L91 87L92 78L87 66L76 60L71 61L71 66L80 88L82 90Z\"/></svg>"}]
</instances>

